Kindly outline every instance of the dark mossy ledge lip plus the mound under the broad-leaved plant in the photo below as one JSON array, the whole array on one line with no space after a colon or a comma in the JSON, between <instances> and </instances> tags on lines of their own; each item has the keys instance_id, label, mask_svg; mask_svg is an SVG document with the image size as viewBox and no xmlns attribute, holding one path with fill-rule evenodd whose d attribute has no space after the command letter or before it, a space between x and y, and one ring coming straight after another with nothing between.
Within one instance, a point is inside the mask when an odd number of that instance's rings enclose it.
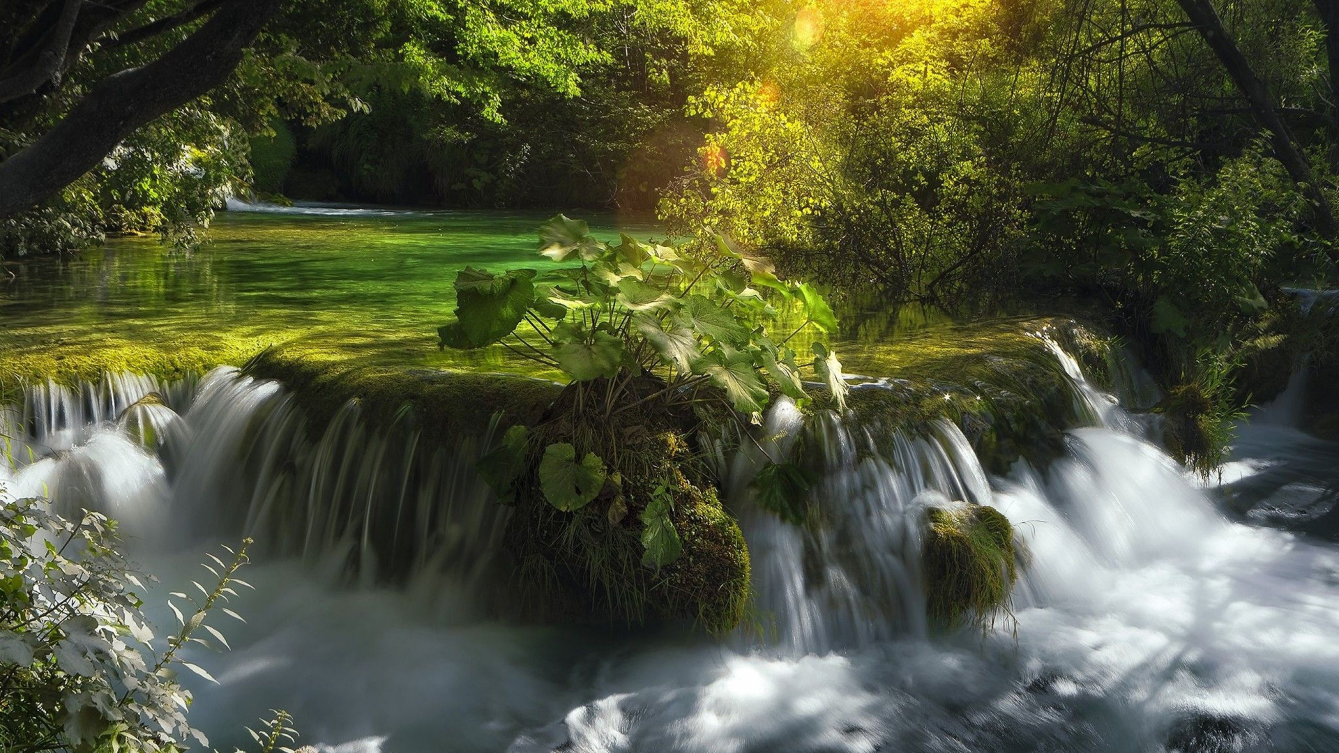
<instances>
[{"instance_id":1,"label":"dark mossy ledge lip plus the mound under the broad-leaved plant","mask_svg":"<svg viewBox=\"0 0 1339 753\"><path fill-rule=\"evenodd\" d=\"M636 413L613 433L595 417L568 410L570 390L546 379L506 374L324 363L304 348L268 348L244 367L285 385L324 431L341 406L358 401L364 419L390 423L408 410L431 441L454 443L481 434L495 415L538 438L507 525L503 555L513 561L522 616L545 622L691 620L711 634L743 619L750 587L749 547L722 506L715 480L686 437L692 411ZM570 417L578 417L573 423ZM617 469L617 488L576 512L552 506L540 486L540 452L572 442ZM683 553L655 569L643 564L640 520L657 489L672 500L671 521Z\"/></svg>"}]
</instances>

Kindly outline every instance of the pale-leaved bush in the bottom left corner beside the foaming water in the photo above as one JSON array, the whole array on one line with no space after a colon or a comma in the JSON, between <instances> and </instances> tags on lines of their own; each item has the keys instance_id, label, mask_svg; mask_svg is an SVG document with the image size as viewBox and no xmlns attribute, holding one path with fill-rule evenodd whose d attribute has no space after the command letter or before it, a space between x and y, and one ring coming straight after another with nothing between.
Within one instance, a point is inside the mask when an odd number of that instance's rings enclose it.
<instances>
[{"instance_id":1,"label":"pale-leaved bush in the bottom left corner beside the foaming water","mask_svg":"<svg viewBox=\"0 0 1339 753\"><path fill-rule=\"evenodd\" d=\"M190 691L175 677L186 670L213 678L181 650L210 640L226 647L206 618L244 586L236 573L246 563L245 544L229 549L229 560L210 556L217 567L205 567L213 588L173 594L178 630L158 639L135 595L143 583L116 551L112 521L84 512L75 523L44 500L4 500L0 746L15 753L174 752L191 738L205 744L186 722Z\"/></svg>"}]
</instances>

